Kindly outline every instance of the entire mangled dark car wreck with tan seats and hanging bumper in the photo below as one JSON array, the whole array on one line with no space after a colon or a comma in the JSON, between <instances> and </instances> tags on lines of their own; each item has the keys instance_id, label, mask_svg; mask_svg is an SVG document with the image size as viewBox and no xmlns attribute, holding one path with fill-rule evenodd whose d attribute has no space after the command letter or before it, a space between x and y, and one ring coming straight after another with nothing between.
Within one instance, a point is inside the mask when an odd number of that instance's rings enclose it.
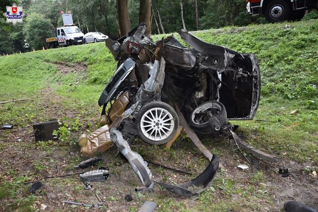
<instances>
[{"instance_id":1,"label":"entire mangled dark car wreck with tan seats and hanging bumper","mask_svg":"<svg viewBox=\"0 0 318 212\"><path fill-rule=\"evenodd\" d=\"M129 147L132 139L139 136L154 145L176 139L176 107L198 137L228 130L227 120L252 119L261 79L254 54L206 43L183 29L179 34L190 47L173 36L154 42L144 32L146 24L141 23L117 41L106 39L118 69L98 100L103 127L82 135L79 145L82 156L92 157L115 144L143 185L152 188L150 169ZM207 169L187 184L159 184L195 195L211 185L218 160L213 156Z\"/></svg>"}]
</instances>

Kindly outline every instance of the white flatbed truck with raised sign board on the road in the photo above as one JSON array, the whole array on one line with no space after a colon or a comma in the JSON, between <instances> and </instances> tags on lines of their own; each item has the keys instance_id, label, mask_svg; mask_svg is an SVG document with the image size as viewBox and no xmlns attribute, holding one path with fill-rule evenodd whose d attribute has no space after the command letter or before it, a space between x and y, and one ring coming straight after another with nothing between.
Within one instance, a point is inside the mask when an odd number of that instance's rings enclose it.
<instances>
[{"instance_id":1,"label":"white flatbed truck with raised sign board on the road","mask_svg":"<svg viewBox=\"0 0 318 212\"><path fill-rule=\"evenodd\" d=\"M82 44L84 41L84 34L73 24L72 14L62 13L62 17L64 26L55 28L56 37L45 39L49 48Z\"/></svg>"}]
</instances>

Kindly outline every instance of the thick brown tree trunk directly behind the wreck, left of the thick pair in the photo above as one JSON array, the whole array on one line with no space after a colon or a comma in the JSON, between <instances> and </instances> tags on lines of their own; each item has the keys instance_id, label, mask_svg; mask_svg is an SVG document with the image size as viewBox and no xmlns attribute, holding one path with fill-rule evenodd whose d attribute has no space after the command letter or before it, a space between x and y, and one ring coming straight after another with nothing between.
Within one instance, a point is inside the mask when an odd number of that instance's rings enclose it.
<instances>
[{"instance_id":1,"label":"thick brown tree trunk directly behind the wreck, left of the thick pair","mask_svg":"<svg viewBox=\"0 0 318 212\"><path fill-rule=\"evenodd\" d=\"M124 36L131 31L128 13L128 0L117 0L119 35Z\"/></svg>"}]
</instances>

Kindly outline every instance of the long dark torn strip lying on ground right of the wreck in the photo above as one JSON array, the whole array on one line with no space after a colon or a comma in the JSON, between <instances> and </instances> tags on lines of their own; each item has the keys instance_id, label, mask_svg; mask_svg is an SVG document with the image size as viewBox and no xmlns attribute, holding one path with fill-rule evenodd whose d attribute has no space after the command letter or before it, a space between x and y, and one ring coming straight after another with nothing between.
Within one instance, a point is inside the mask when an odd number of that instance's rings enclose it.
<instances>
[{"instance_id":1,"label":"long dark torn strip lying on ground right of the wreck","mask_svg":"<svg viewBox=\"0 0 318 212\"><path fill-rule=\"evenodd\" d=\"M248 152L250 152L251 154L253 154L256 157L262 158L263 160L267 160L273 163L277 163L280 161L279 158L277 158L276 156L267 154L262 152L261 150L258 150L256 148L254 148L253 146L249 145L248 143L244 142L237 134L235 134L235 132L233 132L232 130L229 130L229 132L232 134L233 139L236 141L236 143L246 149Z\"/></svg>"}]
</instances>

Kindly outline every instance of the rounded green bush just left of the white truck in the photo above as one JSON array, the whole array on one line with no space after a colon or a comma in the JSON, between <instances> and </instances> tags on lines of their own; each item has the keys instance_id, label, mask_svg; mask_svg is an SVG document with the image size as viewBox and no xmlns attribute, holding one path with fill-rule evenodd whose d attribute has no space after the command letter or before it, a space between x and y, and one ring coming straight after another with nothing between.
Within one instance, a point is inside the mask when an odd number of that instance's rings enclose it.
<instances>
[{"instance_id":1,"label":"rounded green bush just left of the white truck","mask_svg":"<svg viewBox=\"0 0 318 212\"><path fill-rule=\"evenodd\" d=\"M45 46L45 38L54 37L53 25L40 13L28 14L23 25L23 34L34 49Z\"/></svg>"}]
</instances>

